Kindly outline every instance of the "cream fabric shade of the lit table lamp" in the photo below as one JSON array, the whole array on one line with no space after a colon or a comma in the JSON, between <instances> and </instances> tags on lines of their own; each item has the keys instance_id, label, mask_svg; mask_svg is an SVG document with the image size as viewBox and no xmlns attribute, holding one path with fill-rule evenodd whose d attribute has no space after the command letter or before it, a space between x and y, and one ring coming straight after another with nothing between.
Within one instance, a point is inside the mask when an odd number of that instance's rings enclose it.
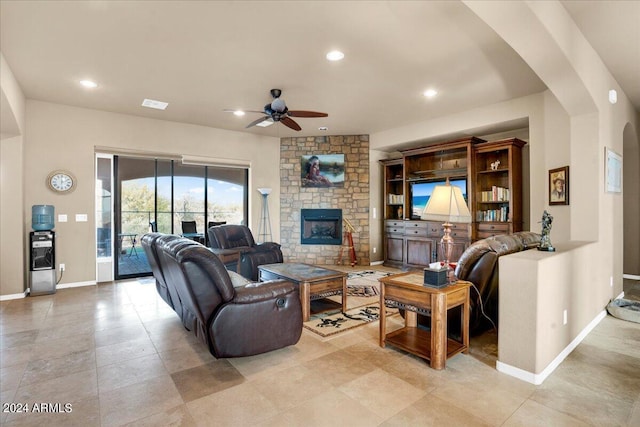
<instances>
[{"instance_id":1,"label":"cream fabric shade of the lit table lamp","mask_svg":"<svg viewBox=\"0 0 640 427\"><path fill-rule=\"evenodd\" d=\"M471 222L471 212L460 188L450 184L436 185L421 218L440 222Z\"/></svg>"}]
</instances>

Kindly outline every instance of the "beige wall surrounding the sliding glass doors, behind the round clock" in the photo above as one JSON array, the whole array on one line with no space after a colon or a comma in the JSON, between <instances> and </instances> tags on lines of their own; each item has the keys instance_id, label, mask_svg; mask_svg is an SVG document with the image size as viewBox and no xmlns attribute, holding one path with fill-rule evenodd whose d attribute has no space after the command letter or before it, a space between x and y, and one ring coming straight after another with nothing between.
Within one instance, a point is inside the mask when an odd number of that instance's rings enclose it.
<instances>
[{"instance_id":1,"label":"beige wall surrounding the sliding glass doors, behind the round clock","mask_svg":"<svg viewBox=\"0 0 640 427\"><path fill-rule=\"evenodd\" d=\"M187 154L251 163L249 176L250 223L260 219L258 187L271 187L270 209L280 210L277 138L261 137L203 126L75 108L40 101L27 102L27 138L24 148L25 212L34 204L55 206L56 216L67 214L69 222L56 223L56 262L65 263L64 283L94 281L96 277L94 220L94 147L112 147L158 154ZM67 169L78 180L76 190L57 195L45 185L47 174ZM88 222L75 222L76 214L87 214ZM280 222L271 218L274 240ZM24 218L23 234L31 229ZM256 231L257 232L257 231ZM4 248L3 248L4 249Z\"/></svg>"}]
</instances>

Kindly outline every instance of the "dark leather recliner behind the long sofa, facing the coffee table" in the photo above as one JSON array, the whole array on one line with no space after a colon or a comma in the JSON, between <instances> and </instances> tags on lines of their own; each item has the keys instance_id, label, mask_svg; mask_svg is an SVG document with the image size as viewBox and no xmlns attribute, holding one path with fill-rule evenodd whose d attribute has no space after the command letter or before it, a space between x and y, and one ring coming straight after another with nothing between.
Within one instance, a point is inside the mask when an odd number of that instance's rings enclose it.
<instances>
[{"instance_id":1,"label":"dark leather recliner behind the long sofa, facing the coffee table","mask_svg":"<svg viewBox=\"0 0 640 427\"><path fill-rule=\"evenodd\" d=\"M229 270L250 280L258 280L258 266L283 262L280 245L275 242L256 244L249 227L226 224L207 230L209 247Z\"/></svg>"}]
</instances>

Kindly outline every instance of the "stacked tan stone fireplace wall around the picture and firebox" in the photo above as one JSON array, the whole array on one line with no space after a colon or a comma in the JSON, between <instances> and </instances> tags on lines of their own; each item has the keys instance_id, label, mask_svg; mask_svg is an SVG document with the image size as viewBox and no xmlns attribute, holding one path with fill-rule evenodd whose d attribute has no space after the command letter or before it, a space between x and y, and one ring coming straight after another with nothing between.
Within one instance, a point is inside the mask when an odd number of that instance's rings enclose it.
<instances>
[{"instance_id":1,"label":"stacked tan stone fireplace wall around the picture and firebox","mask_svg":"<svg viewBox=\"0 0 640 427\"><path fill-rule=\"evenodd\" d=\"M303 187L301 156L310 154L344 154L345 178L343 187ZM334 135L280 139L280 242L286 262L332 265L339 260L343 249L345 220L355 232L354 247L359 265L369 265L369 136ZM302 243L305 209L337 209L342 223L335 227L337 243ZM316 234L328 233L328 224L316 227ZM345 261L346 259L346 261Z\"/></svg>"}]
</instances>

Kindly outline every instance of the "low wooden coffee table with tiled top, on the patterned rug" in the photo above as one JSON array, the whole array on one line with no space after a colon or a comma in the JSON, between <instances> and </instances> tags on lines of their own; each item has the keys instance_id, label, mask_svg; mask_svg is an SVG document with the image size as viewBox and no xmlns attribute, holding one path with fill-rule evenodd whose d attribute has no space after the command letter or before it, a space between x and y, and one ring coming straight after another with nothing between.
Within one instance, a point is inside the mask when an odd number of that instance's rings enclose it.
<instances>
[{"instance_id":1,"label":"low wooden coffee table with tiled top, on the patterned rug","mask_svg":"<svg viewBox=\"0 0 640 427\"><path fill-rule=\"evenodd\" d=\"M311 301L342 294L342 311L347 309L347 273L310 264L280 263L258 266L261 282L284 279L300 286L302 321L309 320Z\"/></svg>"}]
</instances>

